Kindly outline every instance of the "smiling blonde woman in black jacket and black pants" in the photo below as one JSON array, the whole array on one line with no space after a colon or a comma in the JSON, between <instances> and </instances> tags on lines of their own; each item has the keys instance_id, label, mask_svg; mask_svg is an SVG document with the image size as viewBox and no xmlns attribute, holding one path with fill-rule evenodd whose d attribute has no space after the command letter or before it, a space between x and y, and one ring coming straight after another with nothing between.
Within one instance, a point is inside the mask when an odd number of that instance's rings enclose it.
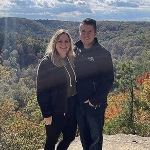
<instances>
[{"instance_id":1,"label":"smiling blonde woman in black jacket and black pants","mask_svg":"<svg viewBox=\"0 0 150 150\"><path fill-rule=\"evenodd\" d=\"M76 134L76 74L73 42L69 33L58 30L38 67L37 100L46 128L44 150L67 150Z\"/></svg>"}]
</instances>

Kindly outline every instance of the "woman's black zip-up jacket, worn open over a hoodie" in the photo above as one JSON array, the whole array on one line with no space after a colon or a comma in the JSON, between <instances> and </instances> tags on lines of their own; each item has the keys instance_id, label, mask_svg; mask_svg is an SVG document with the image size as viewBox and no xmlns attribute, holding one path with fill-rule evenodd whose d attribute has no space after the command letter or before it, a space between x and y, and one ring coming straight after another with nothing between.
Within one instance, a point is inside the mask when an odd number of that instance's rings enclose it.
<instances>
[{"instance_id":1,"label":"woman's black zip-up jacket, worn open over a hoodie","mask_svg":"<svg viewBox=\"0 0 150 150\"><path fill-rule=\"evenodd\" d=\"M64 67L54 66L48 56L37 72L37 101L44 118L53 113L66 113L68 107L67 77Z\"/></svg>"}]
</instances>

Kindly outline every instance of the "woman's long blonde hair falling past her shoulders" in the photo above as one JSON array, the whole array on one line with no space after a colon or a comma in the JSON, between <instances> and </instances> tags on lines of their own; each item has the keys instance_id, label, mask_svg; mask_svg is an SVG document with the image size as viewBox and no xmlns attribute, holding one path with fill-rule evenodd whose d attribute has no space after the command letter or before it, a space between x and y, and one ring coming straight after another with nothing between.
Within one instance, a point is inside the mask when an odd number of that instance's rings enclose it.
<instances>
[{"instance_id":1,"label":"woman's long blonde hair falling past her shoulders","mask_svg":"<svg viewBox=\"0 0 150 150\"><path fill-rule=\"evenodd\" d=\"M68 31L65 29L60 29L60 30L56 31L56 33L53 35L53 37L51 38L51 40L48 44L45 55L50 56L51 61L55 66L57 66L57 67L66 66L64 59L61 58L61 56L59 55L59 53L56 50L56 43L59 39L59 36L62 34L67 34L69 37L70 49L67 52L66 56L69 58L71 65L74 67L75 53L73 51L73 40L72 40L70 34L68 33Z\"/></svg>"}]
</instances>

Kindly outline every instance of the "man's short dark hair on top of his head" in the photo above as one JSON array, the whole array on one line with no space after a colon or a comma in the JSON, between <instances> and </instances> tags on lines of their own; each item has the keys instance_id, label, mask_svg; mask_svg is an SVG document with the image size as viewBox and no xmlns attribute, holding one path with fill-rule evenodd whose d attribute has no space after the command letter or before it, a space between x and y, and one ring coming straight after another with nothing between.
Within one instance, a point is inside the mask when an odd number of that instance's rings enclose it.
<instances>
[{"instance_id":1,"label":"man's short dark hair on top of his head","mask_svg":"<svg viewBox=\"0 0 150 150\"><path fill-rule=\"evenodd\" d=\"M91 18L84 19L79 25L79 30L81 30L82 25L92 25L94 28L94 31L96 32L97 30L96 21L94 19L91 19Z\"/></svg>"}]
</instances>

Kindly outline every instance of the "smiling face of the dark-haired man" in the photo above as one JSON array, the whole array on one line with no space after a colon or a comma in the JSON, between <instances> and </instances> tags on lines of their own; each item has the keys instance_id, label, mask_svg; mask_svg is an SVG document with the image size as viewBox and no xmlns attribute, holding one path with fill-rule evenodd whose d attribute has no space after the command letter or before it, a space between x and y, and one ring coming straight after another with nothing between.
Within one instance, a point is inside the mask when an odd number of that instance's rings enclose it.
<instances>
[{"instance_id":1,"label":"smiling face of the dark-haired man","mask_svg":"<svg viewBox=\"0 0 150 150\"><path fill-rule=\"evenodd\" d=\"M92 25L82 25L80 29L80 40L84 48L90 48L93 45L96 33Z\"/></svg>"}]
</instances>

